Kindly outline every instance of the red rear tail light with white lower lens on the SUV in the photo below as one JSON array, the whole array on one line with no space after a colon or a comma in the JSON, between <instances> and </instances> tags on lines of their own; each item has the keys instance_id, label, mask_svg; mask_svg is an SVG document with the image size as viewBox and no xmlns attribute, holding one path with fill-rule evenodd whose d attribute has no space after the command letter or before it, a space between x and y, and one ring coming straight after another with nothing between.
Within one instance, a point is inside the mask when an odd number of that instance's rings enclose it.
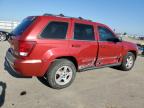
<instances>
[{"instance_id":1,"label":"red rear tail light with white lower lens on the SUV","mask_svg":"<svg viewBox=\"0 0 144 108\"><path fill-rule=\"evenodd\" d=\"M17 55L19 56L28 56L32 49L34 48L36 42L34 41L20 41L18 43Z\"/></svg>"}]
</instances>

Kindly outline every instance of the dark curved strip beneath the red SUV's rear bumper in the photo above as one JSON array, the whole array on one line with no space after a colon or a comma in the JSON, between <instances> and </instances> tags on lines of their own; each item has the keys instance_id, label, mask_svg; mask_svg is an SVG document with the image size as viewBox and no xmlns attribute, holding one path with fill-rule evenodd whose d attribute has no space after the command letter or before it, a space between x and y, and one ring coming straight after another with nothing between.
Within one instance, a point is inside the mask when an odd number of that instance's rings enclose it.
<instances>
[{"instance_id":1,"label":"dark curved strip beneath the red SUV's rear bumper","mask_svg":"<svg viewBox=\"0 0 144 108\"><path fill-rule=\"evenodd\" d=\"M18 73L16 73L11 67L10 65L7 63L7 61L4 61L4 69L13 77L15 78L32 78L32 77L24 77Z\"/></svg>"}]
</instances>

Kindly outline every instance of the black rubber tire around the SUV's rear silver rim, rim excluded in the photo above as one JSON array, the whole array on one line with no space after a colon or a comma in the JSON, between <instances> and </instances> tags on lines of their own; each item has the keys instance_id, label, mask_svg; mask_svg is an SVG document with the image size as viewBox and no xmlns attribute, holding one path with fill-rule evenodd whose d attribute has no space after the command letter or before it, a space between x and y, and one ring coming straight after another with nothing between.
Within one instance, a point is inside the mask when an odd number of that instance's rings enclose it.
<instances>
[{"instance_id":1,"label":"black rubber tire around the SUV's rear silver rim, rim excluded","mask_svg":"<svg viewBox=\"0 0 144 108\"><path fill-rule=\"evenodd\" d=\"M61 67L64 67L64 66L68 66L72 71L72 75L71 75L71 79L68 83L64 84L64 85L60 85L56 82L56 72L58 71L58 69L60 69ZM48 69L47 73L46 73L46 79L47 79L47 82L49 84L49 86L51 88L54 88L54 89L62 89L62 88L65 88L65 87L68 87L72 84L72 82L74 81L75 79L75 76L76 76L76 68L75 68L75 65L67 60L67 59L57 59L55 60L50 68Z\"/></svg>"}]
</instances>

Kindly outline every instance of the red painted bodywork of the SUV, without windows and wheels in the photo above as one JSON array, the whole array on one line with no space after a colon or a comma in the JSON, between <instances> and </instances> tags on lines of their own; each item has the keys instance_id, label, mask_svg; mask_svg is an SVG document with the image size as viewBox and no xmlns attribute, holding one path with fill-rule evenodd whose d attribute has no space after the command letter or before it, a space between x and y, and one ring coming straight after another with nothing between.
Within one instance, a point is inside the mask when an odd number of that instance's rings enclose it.
<instances>
[{"instance_id":1,"label":"red painted bodywork of the SUV, without windows and wheels","mask_svg":"<svg viewBox=\"0 0 144 108\"><path fill-rule=\"evenodd\" d=\"M66 39L42 39L39 37L44 27L50 21L68 22L69 27ZM95 41L73 40L74 23L92 25L95 32ZM57 58L72 57L78 64L78 70L89 66L104 66L121 63L128 51L137 54L136 45L129 42L100 42L97 26L107 26L87 20L76 18L63 18L55 16L38 16L22 36L10 40L13 57L12 67L24 76L43 76L50 64ZM108 28L111 30L110 28ZM28 55L20 56L19 52Z\"/></svg>"}]
</instances>

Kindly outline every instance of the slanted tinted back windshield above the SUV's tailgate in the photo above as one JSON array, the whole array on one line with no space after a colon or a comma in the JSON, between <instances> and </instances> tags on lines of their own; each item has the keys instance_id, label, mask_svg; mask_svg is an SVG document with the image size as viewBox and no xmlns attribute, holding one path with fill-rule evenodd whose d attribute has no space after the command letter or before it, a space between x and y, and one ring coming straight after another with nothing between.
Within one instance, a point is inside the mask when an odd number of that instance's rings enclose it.
<instances>
[{"instance_id":1,"label":"slanted tinted back windshield above the SUV's tailgate","mask_svg":"<svg viewBox=\"0 0 144 108\"><path fill-rule=\"evenodd\" d=\"M11 33L14 36L20 36L36 19L36 17L25 18Z\"/></svg>"}]
</instances>

